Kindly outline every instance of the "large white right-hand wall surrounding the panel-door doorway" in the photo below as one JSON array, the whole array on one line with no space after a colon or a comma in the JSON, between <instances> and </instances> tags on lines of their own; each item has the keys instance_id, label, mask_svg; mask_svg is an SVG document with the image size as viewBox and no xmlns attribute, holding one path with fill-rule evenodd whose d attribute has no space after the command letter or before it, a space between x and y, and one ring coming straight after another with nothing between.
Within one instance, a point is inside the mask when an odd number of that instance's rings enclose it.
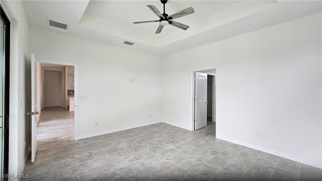
<instances>
[{"instance_id":1,"label":"large white right-hand wall surrounding the panel-door doorway","mask_svg":"<svg viewBox=\"0 0 322 181\"><path fill-rule=\"evenodd\" d=\"M322 167L321 38L319 13L164 57L163 120L191 130L192 70L216 68L219 138Z\"/></svg>"}]
</instances>

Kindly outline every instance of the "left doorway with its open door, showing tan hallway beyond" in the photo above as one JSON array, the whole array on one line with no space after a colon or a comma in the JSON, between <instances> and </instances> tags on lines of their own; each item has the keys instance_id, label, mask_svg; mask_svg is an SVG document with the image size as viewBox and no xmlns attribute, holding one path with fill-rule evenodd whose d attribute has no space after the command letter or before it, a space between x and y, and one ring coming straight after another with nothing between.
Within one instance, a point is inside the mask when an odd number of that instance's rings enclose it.
<instances>
[{"instance_id":1,"label":"left doorway with its open door, showing tan hallway beyond","mask_svg":"<svg viewBox=\"0 0 322 181\"><path fill-rule=\"evenodd\" d=\"M31 61L31 162L55 152L55 144L78 139L77 64Z\"/></svg>"}]
</instances>

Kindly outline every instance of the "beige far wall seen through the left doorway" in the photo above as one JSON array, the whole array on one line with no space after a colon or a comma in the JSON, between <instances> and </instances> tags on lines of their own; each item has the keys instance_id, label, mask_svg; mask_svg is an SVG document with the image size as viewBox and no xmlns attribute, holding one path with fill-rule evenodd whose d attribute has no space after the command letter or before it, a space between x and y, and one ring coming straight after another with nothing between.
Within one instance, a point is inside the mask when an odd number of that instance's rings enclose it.
<instances>
[{"instance_id":1,"label":"beige far wall seen through the left doorway","mask_svg":"<svg viewBox=\"0 0 322 181\"><path fill-rule=\"evenodd\" d=\"M62 72L44 70L44 107L61 106Z\"/></svg>"}]
</instances>

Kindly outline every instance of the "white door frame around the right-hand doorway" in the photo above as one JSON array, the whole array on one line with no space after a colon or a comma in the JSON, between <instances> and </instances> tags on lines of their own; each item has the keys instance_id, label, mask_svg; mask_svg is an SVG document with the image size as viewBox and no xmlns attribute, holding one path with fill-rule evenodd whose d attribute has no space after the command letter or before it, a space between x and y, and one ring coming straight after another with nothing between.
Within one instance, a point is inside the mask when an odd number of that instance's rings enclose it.
<instances>
[{"instance_id":1,"label":"white door frame around the right-hand doorway","mask_svg":"<svg viewBox=\"0 0 322 181\"><path fill-rule=\"evenodd\" d=\"M194 131L195 130L195 123L194 123L194 118L195 118L195 72L204 72L206 70L211 70L211 69L216 69L216 74L213 73L207 73L209 75L215 75L215 94L216 94L216 108L213 110L216 112L216 116L215 116L215 121L216 121L216 137L218 137L218 113L219 113L219 109L218 109L218 80L219 80L219 76L218 76L218 68L214 67L214 68L202 68L202 69L193 69L191 70L191 86L190 86L190 93L191 93L191 130ZM208 94L208 93L207 93Z\"/></svg>"}]
</instances>

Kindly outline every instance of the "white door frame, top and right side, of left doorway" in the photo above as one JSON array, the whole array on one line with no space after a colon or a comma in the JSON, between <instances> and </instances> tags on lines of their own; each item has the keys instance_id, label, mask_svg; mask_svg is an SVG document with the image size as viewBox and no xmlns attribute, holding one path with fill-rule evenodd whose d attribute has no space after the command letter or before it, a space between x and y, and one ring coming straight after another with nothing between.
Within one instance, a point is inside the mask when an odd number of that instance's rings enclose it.
<instances>
[{"instance_id":1,"label":"white door frame, top and right side, of left doorway","mask_svg":"<svg viewBox=\"0 0 322 181\"><path fill-rule=\"evenodd\" d=\"M38 59L39 63L52 63L58 65L66 65L74 67L74 99L75 99L75 111L74 111L74 139L78 140L78 64L70 63L70 62L62 62L62 61L54 61L54 60L45 60Z\"/></svg>"}]
</instances>

